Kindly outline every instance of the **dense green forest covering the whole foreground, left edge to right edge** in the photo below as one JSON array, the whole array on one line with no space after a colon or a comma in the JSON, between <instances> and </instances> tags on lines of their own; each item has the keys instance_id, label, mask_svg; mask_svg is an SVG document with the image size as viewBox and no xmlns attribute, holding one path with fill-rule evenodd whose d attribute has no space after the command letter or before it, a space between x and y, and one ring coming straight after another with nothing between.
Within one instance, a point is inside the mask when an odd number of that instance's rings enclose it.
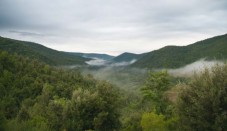
<instances>
[{"instance_id":1,"label":"dense green forest covering the whole foreground, left edge to right edge","mask_svg":"<svg viewBox=\"0 0 227 131\"><path fill-rule=\"evenodd\" d=\"M135 94L0 51L0 130L227 130L227 65L192 78L149 71Z\"/></svg>"}]
</instances>

